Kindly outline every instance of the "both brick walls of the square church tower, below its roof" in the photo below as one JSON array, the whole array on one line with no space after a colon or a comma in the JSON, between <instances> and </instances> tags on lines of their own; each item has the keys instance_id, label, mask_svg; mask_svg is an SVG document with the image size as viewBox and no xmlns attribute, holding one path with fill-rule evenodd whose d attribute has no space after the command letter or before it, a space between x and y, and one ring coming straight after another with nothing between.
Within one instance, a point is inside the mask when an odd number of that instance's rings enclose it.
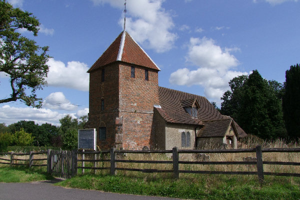
<instances>
[{"instance_id":1,"label":"both brick walls of the square church tower, below its roof","mask_svg":"<svg viewBox=\"0 0 300 200\"><path fill-rule=\"evenodd\" d=\"M135 77L131 77L131 66ZM102 68L105 70L101 81ZM124 149L152 148L154 140L153 105L158 100L158 71L113 62L90 72L88 128L96 128L97 145ZM101 99L104 110L101 110ZM99 140L99 127L106 127L106 139Z\"/></svg>"}]
</instances>

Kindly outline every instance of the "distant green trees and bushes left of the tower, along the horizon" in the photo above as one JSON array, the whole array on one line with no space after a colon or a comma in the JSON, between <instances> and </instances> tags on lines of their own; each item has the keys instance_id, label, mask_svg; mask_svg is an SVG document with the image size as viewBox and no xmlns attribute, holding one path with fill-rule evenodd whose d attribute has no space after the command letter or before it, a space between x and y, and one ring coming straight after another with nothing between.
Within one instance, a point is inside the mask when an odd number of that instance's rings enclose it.
<instances>
[{"instance_id":1,"label":"distant green trees and bushes left of the tower, along the horizon","mask_svg":"<svg viewBox=\"0 0 300 200\"><path fill-rule=\"evenodd\" d=\"M8 145L55 146L64 149L77 147L77 130L83 128L87 116L79 119L65 115L59 119L60 126L50 123L36 124L34 121L20 120L8 126L0 123L0 149Z\"/></svg>"}]
</instances>

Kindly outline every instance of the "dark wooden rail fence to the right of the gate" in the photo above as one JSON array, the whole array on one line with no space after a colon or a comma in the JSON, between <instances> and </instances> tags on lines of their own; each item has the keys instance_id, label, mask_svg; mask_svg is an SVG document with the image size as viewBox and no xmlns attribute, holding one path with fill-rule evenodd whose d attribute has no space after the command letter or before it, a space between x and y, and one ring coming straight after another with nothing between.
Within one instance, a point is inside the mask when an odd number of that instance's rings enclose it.
<instances>
[{"instance_id":1,"label":"dark wooden rail fence to the right of the gate","mask_svg":"<svg viewBox=\"0 0 300 200\"><path fill-rule=\"evenodd\" d=\"M179 159L179 154L181 153L245 153L245 152L255 152L256 153L256 161L183 161ZM110 154L110 159L78 159L75 160L93 162L93 167L86 167L84 164L82 166L77 166L76 169L81 168L82 172L84 169L109 169L110 174L116 174L116 170L126 170L126 171L141 171L141 172L169 172L173 173L175 178L179 178L179 173L203 173L203 174L252 174L257 175L258 179L262 181L264 179L264 175L277 175L277 176L298 176L300 177L300 171L297 173L288 173L288 172L264 172L263 164L271 164L271 165L300 165L300 162L285 162L285 161L263 161L262 160L262 152L300 152L300 148L264 148L262 149L260 145L255 148L247 148L247 149L207 149L207 150L182 150L174 147L172 150L116 150L115 148L111 148L109 151L90 151L90 152L82 152L76 151L77 154ZM124 154L124 153L172 153L172 160L129 160L129 159L117 159L116 154ZM77 156L76 156L77 157ZM96 157L96 156L95 156ZM110 162L110 167L96 167L96 162ZM126 162L126 163L165 163L172 164L172 169L147 169L147 168L124 168L117 167L117 162ZM201 165L236 165L236 164L245 164L245 165L256 165L256 171L211 171L211 170L180 170L179 164L201 164Z\"/></svg>"}]
</instances>

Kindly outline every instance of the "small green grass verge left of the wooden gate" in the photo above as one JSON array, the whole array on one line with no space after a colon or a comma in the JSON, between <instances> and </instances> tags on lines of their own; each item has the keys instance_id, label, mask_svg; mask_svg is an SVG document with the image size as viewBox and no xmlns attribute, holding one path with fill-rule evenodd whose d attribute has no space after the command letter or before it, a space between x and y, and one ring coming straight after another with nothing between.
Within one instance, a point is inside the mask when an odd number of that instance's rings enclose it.
<instances>
[{"instance_id":1,"label":"small green grass verge left of the wooden gate","mask_svg":"<svg viewBox=\"0 0 300 200\"><path fill-rule=\"evenodd\" d=\"M47 174L44 167L0 167L0 182L31 182L51 179L53 176Z\"/></svg>"}]
</instances>

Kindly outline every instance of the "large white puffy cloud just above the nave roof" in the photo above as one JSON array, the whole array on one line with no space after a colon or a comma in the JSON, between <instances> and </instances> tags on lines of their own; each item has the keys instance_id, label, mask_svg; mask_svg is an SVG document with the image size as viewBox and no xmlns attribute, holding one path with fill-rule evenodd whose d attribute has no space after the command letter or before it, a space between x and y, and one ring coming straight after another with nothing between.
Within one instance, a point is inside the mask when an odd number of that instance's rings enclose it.
<instances>
[{"instance_id":1,"label":"large white puffy cloud just above the nave roof","mask_svg":"<svg viewBox=\"0 0 300 200\"><path fill-rule=\"evenodd\" d=\"M239 48L221 48L215 41L206 37L190 38L186 62L197 66L196 70L179 68L172 72L169 82L177 85L200 85L204 87L204 94L216 102L229 89L228 82L237 75L248 74L236 71L238 60L231 51Z\"/></svg>"}]
</instances>

